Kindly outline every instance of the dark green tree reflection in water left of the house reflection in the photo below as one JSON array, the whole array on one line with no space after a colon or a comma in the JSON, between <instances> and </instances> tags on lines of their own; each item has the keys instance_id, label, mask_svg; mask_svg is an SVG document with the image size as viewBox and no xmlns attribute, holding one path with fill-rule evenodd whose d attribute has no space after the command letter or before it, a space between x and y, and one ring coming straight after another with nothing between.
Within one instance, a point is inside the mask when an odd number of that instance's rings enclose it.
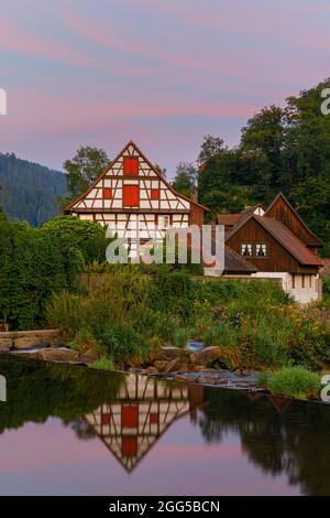
<instances>
[{"instance_id":1,"label":"dark green tree reflection in water left of the house reflection","mask_svg":"<svg viewBox=\"0 0 330 518\"><path fill-rule=\"evenodd\" d=\"M75 421L105 397L113 399L122 381L122 375L6 355L0 356L0 373L7 378L8 396L0 406L0 433L50 417Z\"/></svg>"}]
</instances>

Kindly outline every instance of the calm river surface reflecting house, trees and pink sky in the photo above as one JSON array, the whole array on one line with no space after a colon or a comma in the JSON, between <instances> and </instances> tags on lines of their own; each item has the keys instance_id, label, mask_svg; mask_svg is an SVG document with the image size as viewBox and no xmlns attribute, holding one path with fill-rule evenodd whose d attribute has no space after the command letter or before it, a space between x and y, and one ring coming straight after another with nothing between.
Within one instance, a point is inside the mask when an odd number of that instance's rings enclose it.
<instances>
[{"instance_id":1,"label":"calm river surface reflecting house, trees and pink sky","mask_svg":"<svg viewBox=\"0 0 330 518\"><path fill-rule=\"evenodd\" d=\"M329 495L330 407L1 356L1 495Z\"/></svg>"}]
</instances>

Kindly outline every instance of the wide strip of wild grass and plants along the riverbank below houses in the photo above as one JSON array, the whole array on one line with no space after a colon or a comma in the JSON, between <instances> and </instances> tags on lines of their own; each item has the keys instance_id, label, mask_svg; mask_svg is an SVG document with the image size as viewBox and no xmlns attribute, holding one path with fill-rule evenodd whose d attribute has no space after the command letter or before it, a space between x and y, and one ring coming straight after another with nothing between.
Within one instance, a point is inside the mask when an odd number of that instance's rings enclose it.
<instances>
[{"instance_id":1,"label":"wide strip of wild grass and plants along the riverbank below houses","mask_svg":"<svg viewBox=\"0 0 330 518\"><path fill-rule=\"evenodd\" d=\"M101 282L53 296L47 324L78 350L96 350L116 365L145 363L162 345L189 339L219 346L220 364L254 370L330 361L327 310L300 309L272 282L194 281L187 272L118 265Z\"/></svg>"}]
</instances>

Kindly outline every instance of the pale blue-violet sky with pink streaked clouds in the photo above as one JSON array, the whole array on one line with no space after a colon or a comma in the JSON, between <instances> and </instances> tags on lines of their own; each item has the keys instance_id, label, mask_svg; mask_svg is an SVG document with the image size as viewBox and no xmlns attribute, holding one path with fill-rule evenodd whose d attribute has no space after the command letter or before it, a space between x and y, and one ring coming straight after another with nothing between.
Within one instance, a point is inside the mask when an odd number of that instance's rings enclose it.
<instances>
[{"instance_id":1,"label":"pale blue-violet sky with pink streaked clouds","mask_svg":"<svg viewBox=\"0 0 330 518\"><path fill-rule=\"evenodd\" d=\"M1 6L0 151L62 168L132 139L169 175L202 137L329 75L327 0L11 0Z\"/></svg>"}]
</instances>

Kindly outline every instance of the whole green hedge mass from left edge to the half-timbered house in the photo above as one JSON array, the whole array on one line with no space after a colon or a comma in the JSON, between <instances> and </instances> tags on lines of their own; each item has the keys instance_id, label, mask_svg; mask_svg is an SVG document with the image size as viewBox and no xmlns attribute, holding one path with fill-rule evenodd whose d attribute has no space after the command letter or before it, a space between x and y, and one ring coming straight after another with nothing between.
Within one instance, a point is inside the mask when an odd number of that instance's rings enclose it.
<instances>
[{"instance_id":1,"label":"whole green hedge mass from left edge to the half-timbered house","mask_svg":"<svg viewBox=\"0 0 330 518\"><path fill-rule=\"evenodd\" d=\"M85 262L99 258L103 235L92 222L64 216L37 230L0 213L0 323L11 330L43 325L51 295L73 289Z\"/></svg>"}]
</instances>

